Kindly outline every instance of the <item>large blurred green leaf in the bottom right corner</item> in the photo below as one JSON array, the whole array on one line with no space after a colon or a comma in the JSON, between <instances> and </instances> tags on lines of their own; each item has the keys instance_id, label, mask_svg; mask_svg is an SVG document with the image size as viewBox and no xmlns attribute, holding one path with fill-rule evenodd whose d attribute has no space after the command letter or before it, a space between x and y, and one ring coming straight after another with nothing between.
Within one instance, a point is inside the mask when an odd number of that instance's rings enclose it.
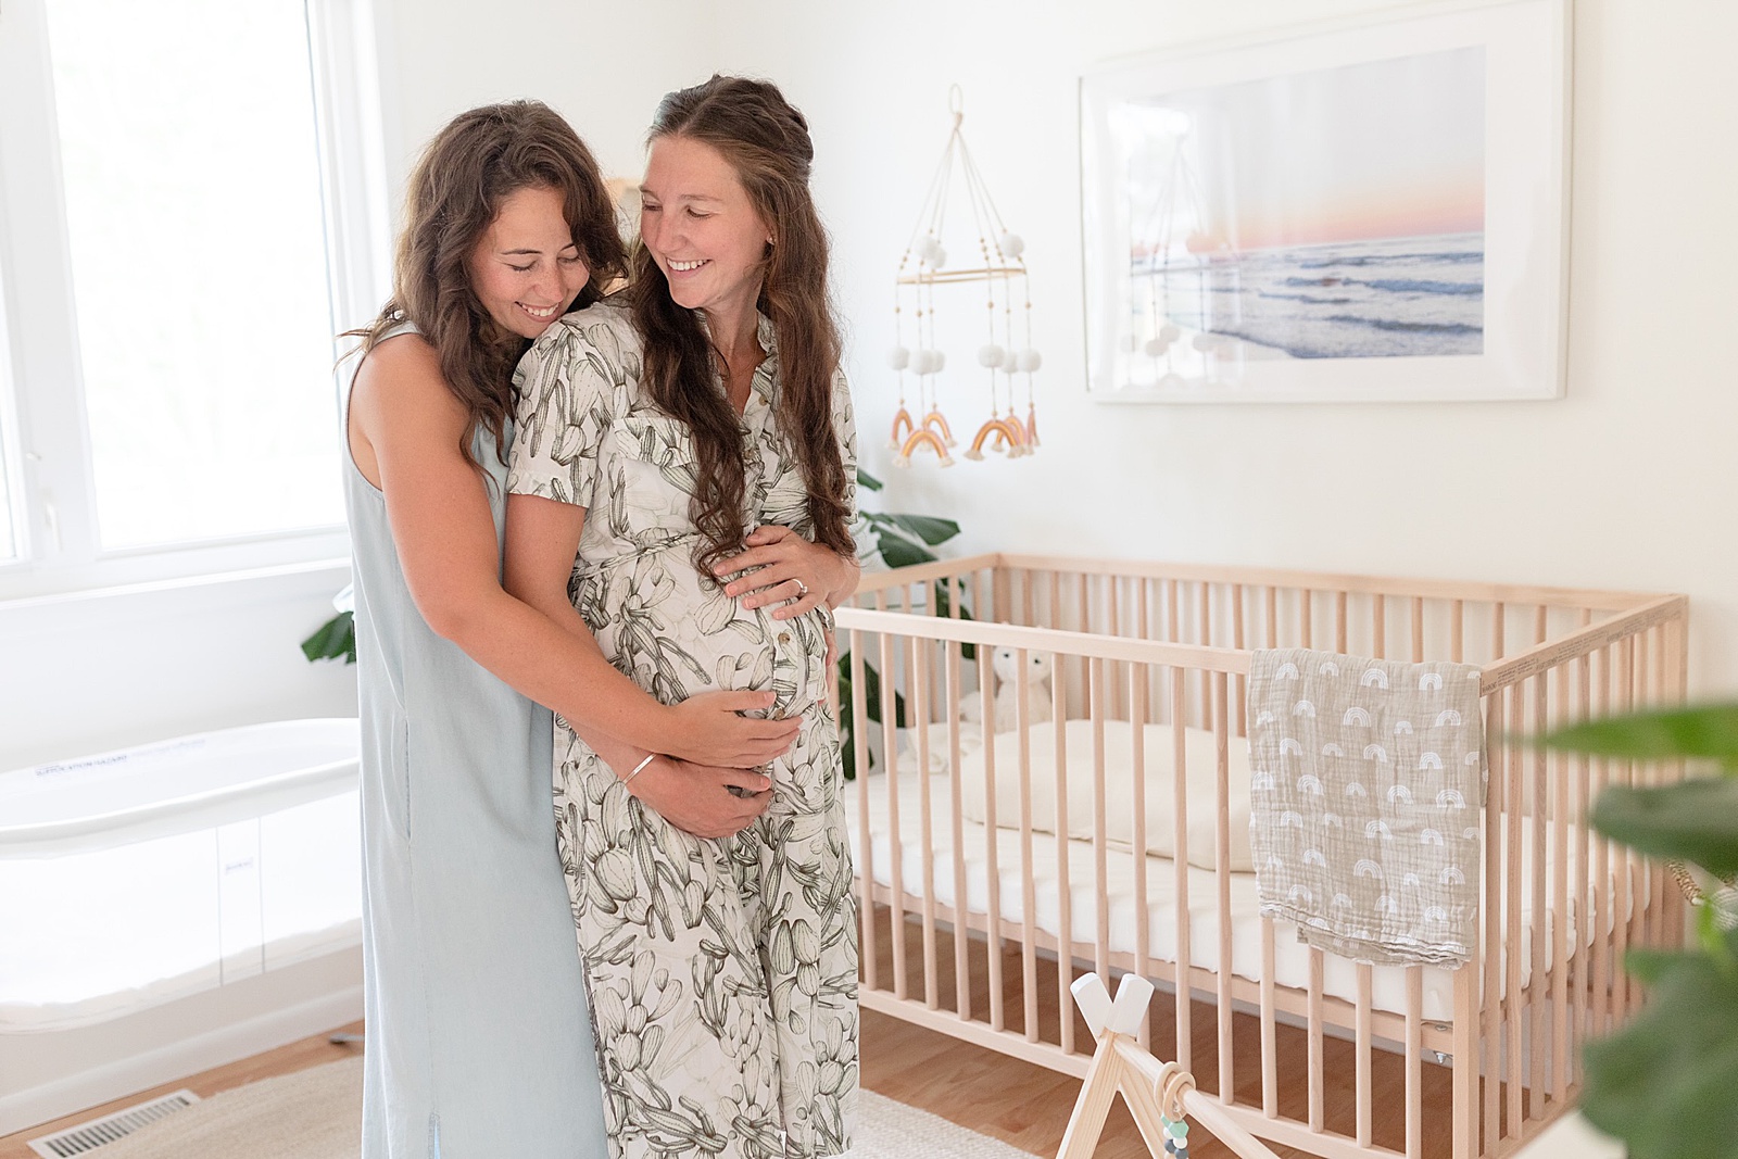
<instances>
[{"instance_id":1,"label":"large blurred green leaf in the bottom right corner","mask_svg":"<svg viewBox=\"0 0 1738 1159\"><path fill-rule=\"evenodd\" d=\"M1738 952L1738 931L1726 935ZM1705 954L1651 954L1649 1001L1583 1053L1582 1114L1632 1159L1738 1156L1738 978Z\"/></svg>"}]
</instances>

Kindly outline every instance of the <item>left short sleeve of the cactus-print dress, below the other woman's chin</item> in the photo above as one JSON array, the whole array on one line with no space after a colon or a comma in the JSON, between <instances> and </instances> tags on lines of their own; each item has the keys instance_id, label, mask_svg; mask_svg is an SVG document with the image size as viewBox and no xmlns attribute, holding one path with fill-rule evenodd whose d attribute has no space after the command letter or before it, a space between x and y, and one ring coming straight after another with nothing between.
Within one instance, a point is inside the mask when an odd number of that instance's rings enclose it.
<instances>
[{"instance_id":1,"label":"left short sleeve of the cactus-print dress, below the other woman's chin","mask_svg":"<svg viewBox=\"0 0 1738 1159\"><path fill-rule=\"evenodd\" d=\"M589 507L598 448L619 410L598 327L549 327L513 372L518 396L507 490Z\"/></svg>"}]
</instances>

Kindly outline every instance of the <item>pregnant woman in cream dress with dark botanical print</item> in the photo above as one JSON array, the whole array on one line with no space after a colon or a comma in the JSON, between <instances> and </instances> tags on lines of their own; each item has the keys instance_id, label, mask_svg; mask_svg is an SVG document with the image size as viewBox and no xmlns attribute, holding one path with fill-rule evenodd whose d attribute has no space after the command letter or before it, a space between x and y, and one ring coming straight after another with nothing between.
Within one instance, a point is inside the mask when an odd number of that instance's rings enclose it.
<instances>
[{"instance_id":1,"label":"pregnant woman in cream dress with dark botanical print","mask_svg":"<svg viewBox=\"0 0 1738 1159\"><path fill-rule=\"evenodd\" d=\"M855 436L812 156L768 83L667 96L633 287L520 363L509 591L666 704L772 690L770 716L799 723L765 766L765 815L709 839L558 721L556 832L617 1159L850 1145L857 914L826 692L831 606L857 586Z\"/></svg>"}]
</instances>

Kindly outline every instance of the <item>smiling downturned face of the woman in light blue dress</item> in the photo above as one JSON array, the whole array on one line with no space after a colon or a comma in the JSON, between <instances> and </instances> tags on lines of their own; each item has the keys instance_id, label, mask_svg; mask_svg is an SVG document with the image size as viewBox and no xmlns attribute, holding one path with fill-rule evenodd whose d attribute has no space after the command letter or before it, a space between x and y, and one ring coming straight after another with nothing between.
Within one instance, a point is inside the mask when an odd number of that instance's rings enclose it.
<instances>
[{"instance_id":1,"label":"smiling downturned face of the woman in light blue dress","mask_svg":"<svg viewBox=\"0 0 1738 1159\"><path fill-rule=\"evenodd\" d=\"M497 325L521 339L547 330L591 278L561 207L547 186L514 189L471 250L471 290Z\"/></svg>"}]
</instances>

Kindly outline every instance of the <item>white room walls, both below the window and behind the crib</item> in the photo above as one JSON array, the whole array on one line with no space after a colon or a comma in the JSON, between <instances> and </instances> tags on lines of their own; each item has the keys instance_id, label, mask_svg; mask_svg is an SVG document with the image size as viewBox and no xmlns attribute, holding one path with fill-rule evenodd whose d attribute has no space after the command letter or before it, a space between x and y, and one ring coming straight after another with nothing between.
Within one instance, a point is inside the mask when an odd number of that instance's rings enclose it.
<instances>
[{"instance_id":1,"label":"white room walls, both below the window and behind the crib","mask_svg":"<svg viewBox=\"0 0 1738 1159\"><path fill-rule=\"evenodd\" d=\"M561 109L605 169L638 174L657 97L714 70L772 76L808 113L836 238L866 466L892 507L958 518L961 551L1686 591L1691 678L1738 688L1738 43L1729 5L1580 0L1568 396L1550 403L1119 407L1081 382L1076 78L1118 56L1392 10L1368 0L381 0L395 198L452 113L513 96ZM487 12L487 16L485 16ZM1045 447L893 471L890 287L947 132L947 85L1029 243ZM956 421L973 419L956 407ZM1370 447L1462 464L1418 502L1363 485ZM1305 448L1310 471L1297 469ZM0 768L276 716L353 709L295 641L341 570L170 596L0 605ZM165 603L167 601L167 603ZM195 601L198 603L198 601ZM57 610L56 610L57 608Z\"/></svg>"}]
</instances>

